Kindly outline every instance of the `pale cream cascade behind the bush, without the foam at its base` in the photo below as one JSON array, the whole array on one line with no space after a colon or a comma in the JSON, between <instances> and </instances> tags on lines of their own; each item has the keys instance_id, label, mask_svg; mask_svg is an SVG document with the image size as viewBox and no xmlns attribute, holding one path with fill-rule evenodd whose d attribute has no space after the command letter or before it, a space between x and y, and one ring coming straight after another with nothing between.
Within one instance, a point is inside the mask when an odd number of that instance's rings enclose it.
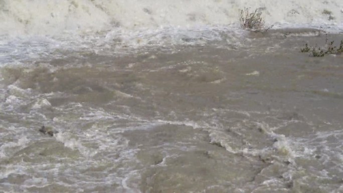
<instances>
[{"instance_id":1,"label":"pale cream cascade behind the bush, without the foam at its base","mask_svg":"<svg viewBox=\"0 0 343 193\"><path fill-rule=\"evenodd\" d=\"M311 5L311 6L308 6ZM100 33L102 30L198 28L239 23L240 9L263 10L267 24L340 25L340 1L61 0L0 2L0 35Z\"/></svg>"}]
</instances>

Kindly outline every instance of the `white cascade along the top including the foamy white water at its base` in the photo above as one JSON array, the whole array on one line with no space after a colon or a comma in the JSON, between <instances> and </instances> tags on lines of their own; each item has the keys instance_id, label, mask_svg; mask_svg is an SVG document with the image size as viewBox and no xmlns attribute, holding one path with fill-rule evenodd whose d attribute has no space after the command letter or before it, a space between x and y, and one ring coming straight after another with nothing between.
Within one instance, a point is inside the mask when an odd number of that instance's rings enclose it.
<instances>
[{"instance_id":1,"label":"white cascade along the top including the foamy white water at its base","mask_svg":"<svg viewBox=\"0 0 343 193\"><path fill-rule=\"evenodd\" d=\"M237 42L240 10L261 9L267 26L343 32L340 0L1 0L0 60L55 50L99 50L209 41ZM109 51L113 53L113 51Z\"/></svg>"}]
</instances>

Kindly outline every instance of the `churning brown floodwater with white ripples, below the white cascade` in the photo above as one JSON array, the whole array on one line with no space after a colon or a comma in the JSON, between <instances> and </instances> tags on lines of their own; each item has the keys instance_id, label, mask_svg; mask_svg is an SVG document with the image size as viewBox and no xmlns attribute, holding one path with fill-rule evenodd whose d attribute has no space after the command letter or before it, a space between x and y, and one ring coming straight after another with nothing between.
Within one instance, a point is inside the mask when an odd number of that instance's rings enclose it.
<instances>
[{"instance_id":1,"label":"churning brown floodwater with white ripples, below the white cascade","mask_svg":"<svg viewBox=\"0 0 343 193\"><path fill-rule=\"evenodd\" d=\"M342 192L343 54L300 52L325 39L284 29L4 65L0 192Z\"/></svg>"}]
</instances>

